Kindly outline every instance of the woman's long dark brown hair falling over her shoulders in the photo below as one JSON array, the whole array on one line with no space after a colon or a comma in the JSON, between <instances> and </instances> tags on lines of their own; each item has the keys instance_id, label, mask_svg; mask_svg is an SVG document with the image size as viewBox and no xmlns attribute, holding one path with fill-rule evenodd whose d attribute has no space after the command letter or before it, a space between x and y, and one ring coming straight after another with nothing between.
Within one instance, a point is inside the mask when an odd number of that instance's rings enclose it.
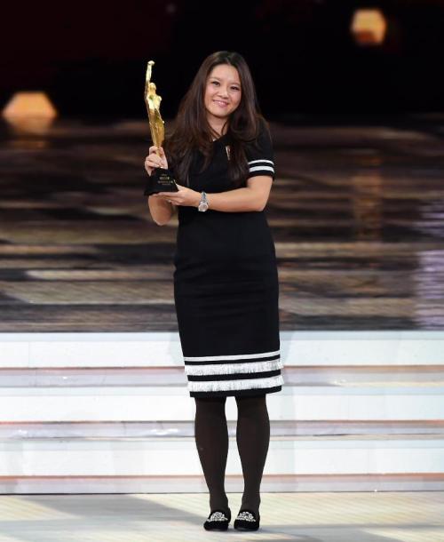
<instances>
[{"instance_id":1,"label":"woman's long dark brown hair falling over her shoulders","mask_svg":"<svg viewBox=\"0 0 444 542\"><path fill-rule=\"evenodd\" d=\"M165 141L165 152L179 184L189 184L188 171L195 149L199 149L205 157L203 169L210 163L214 131L207 121L204 95L207 79L212 69L219 64L228 64L236 68L241 80L241 102L228 119L226 130L227 142L230 145L228 171L234 185L241 186L248 173L242 143L255 141L258 138L260 124L266 126L265 119L260 114L250 68L242 55L238 52L213 52L203 60L193 83L181 100L173 131Z\"/></svg>"}]
</instances>

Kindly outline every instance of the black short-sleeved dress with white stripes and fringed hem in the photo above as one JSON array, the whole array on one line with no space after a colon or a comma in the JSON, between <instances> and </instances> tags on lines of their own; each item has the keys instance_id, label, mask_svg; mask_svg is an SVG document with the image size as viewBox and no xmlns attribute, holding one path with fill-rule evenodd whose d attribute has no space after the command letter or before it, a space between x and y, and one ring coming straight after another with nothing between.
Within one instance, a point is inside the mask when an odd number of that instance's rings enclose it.
<instances>
[{"instance_id":1,"label":"black short-sleeved dress with white stripes and fringed hem","mask_svg":"<svg viewBox=\"0 0 444 542\"><path fill-rule=\"evenodd\" d=\"M213 158L205 171L200 172L202 154L194 153L189 187L209 194L236 188L228 177L227 138L213 142ZM247 145L245 154L249 178L274 179L272 142L265 129L258 145ZM265 212L202 212L178 206L174 265L190 396L280 391L278 275Z\"/></svg>"}]
</instances>

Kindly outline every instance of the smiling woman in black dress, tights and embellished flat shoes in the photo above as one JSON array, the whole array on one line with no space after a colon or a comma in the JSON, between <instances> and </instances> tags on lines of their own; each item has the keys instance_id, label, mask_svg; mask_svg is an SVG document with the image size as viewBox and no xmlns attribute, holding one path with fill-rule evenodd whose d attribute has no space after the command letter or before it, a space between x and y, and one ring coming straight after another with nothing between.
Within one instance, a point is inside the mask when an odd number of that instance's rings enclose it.
<instances>
[{"instance_id":1,"label":"smiling woman in black dress, tights and embellished flat shoes","mask_svg":"<svg viewBox=\"0 0 444 542\"><path fill-rule=\"evenodd\" d=\"M238 408L236 441L244 491L234 521L258 530L259 488L270 439L266 394L281 390L278 276L264 208L273 148L245 60L215 52L203 61L178 109L165 150L145 166L170 167L178 192L151 195L155 222L178 208L174 298L194 432L210 491L206 530L231 520L225 491L226 397Z\"/></svg>"}]
</instances>

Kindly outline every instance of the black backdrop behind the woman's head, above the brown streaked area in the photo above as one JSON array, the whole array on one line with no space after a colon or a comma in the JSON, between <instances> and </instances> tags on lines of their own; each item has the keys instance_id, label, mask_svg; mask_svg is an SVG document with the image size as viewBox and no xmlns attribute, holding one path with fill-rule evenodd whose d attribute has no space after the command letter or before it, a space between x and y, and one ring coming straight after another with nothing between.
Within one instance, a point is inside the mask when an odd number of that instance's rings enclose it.
<instances>
[{"instance_id":1,"label":"black backdrop behind the woman's head, above the brown streaked area","mask_svg":"<svg viewBox=\"0 0 444 542\"><path fill-rule=\"evenodd\" d=\"M353 11L379 7L381 47L350 33ZM0 106L44 90L63 116L146 116L147 60L174 114L210 52L241 52L268 116L387 114L444 108L444 1L128 0L2 8Z\"/></svg>"}]
</instances>

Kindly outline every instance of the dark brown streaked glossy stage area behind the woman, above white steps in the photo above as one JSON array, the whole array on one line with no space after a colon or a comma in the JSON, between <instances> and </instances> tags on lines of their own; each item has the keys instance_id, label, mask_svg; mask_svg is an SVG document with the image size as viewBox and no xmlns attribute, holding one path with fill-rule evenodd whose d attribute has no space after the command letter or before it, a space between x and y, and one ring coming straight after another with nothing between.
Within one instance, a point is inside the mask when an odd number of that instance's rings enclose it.
<instances>
[{"instance_id":1,"label":"dark brown streaked glossy stage area behind the woman, above white steps","mask_svg":"<svg viewBox=\"0 0 444 542\"><path fill-rule=\"evenodd\" d=\"M443 125L272 124L281 330L442 329ZM0 331L177 331L147 132L0 125Z\"/></svg>"}]
</instances>

